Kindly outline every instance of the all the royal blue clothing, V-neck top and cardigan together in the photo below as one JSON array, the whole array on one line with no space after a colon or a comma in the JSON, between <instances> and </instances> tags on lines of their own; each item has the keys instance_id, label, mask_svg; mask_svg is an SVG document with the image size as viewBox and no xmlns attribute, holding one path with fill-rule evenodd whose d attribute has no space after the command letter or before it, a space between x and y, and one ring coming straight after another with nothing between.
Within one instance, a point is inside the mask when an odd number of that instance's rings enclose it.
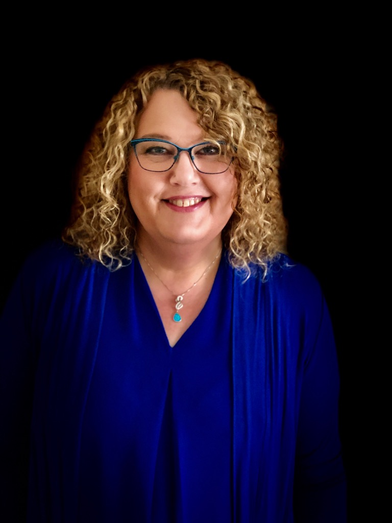
<instances>
[{"instance_id":1,"label":"all the royal blue clothing, V-neck top and cardigan together","mask_svg":"<svg viewBox=\"0 0 392 523\"><path fill-rule=\"evenodd\" d=\"M7 498L27 433L28 521L345 521L332 328L286 256L245 283L223 257L170 347L136 257L110 272L48 245L1 339Z\"/></svg>"}]
</instances>

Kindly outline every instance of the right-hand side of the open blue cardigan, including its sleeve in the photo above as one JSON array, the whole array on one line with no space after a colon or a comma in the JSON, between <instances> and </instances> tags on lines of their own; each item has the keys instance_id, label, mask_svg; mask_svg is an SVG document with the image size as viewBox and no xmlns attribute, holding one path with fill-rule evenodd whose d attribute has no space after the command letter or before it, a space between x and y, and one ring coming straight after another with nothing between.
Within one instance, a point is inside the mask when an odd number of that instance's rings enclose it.
<instances>
[{"instance_id":1,"label":"right-hand side of the open blue cardigan, including its sleeve","mask_svg":"<svg viewBox=\"0 0 392 523\"><path fill-rule=\"evenodd\" d=\"M298 521L343 523L339 372L319 284L281 256L264 282L235 271L233 288L234 520L290 523L294 506Z\"/></svg>"}]
</instances>

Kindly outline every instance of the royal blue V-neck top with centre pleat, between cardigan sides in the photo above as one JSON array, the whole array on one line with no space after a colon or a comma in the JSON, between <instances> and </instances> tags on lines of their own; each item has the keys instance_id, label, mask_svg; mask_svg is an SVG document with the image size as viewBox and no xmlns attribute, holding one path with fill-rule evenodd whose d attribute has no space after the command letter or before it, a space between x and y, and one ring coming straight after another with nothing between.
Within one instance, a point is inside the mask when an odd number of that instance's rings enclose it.
<instances>
[{"instance_id":1,"label":"royal blue V-neck top with centre pleat, between cardigan sides","mask_svg":"<svg viewBox=\"0 0 392 523\"><path fill-rule=\"evenodd\" d=\"M133 265L107 292L82 425L79 519L230 521L230 271L221 263L201 314L170 347L137 257Z\"/></svg>"}]
</instances>

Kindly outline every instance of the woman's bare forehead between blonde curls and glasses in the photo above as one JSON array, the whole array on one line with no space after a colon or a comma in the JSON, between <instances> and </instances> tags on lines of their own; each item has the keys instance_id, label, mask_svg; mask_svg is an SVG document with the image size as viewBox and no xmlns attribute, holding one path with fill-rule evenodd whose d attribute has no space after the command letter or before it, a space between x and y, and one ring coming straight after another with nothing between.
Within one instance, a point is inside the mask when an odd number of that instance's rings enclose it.
<instances>
[{"instance_id":1,"label":"woman's bare forehead between blonde curls and glasses","mask_svg":"<svg viewBox=\"0 0 392 523\"><path fill-rule=\"evenodd\" d=\"M198 114L176 90L159 89L153 93L137 124L137 138L166 138L178 145L198 140L203 130Z\"/></svg>"}]
</instances>

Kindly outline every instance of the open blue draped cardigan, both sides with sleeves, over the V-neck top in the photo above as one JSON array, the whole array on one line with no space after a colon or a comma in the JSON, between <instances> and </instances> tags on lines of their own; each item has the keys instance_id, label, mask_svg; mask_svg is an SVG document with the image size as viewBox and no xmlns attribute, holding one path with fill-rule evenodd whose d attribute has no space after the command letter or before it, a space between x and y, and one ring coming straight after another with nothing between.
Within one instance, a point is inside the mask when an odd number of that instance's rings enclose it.
<instances>
[{"instance_id":1,"label":"open blue draped cardigan, both sides with sleeves, over the V-neck top","mask_svg":"<svg viewBox=\"0 0 392 523\"><path fill-rule=\"evenodd\" d=\"M256 267L246 282L230 270L233 521L341 523L339 374L319 284L284 255L266 281ZM28 521L77 521L80 431L113 274L69 246L44 246L2 315L2 491L20 491L29 439Z\"/></svg>"}]
</instances>

